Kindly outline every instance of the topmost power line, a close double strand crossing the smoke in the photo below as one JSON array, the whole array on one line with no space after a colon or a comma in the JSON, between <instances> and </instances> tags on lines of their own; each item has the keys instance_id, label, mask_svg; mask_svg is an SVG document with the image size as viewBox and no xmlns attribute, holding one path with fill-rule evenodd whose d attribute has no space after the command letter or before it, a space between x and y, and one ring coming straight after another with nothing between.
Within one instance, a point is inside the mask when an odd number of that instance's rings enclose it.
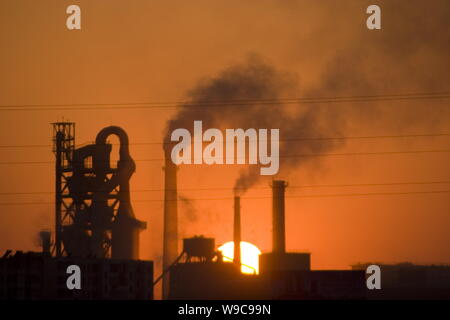
<instances>
[{"instance_id":1,"label":"topmost power line, a close double strand crossing the smoke","mask_svg":"<svg viewBox=\"0 0 450 320\"><path fill-rule=\"evenodd\" d=\"M79 103L79 104L16 104L0 105L0 111L52 111L52 110L111 110L111 109L171 109L198 107L243 107L258 105L295 105L295 104L324 104L402 100L448 99L449 92L442 93L409 93L384 94L341 97L300 97L286 99L249 99L228 101L180 101L180 102L129 102L129 103ZM92 107L97 107L93 109Z\"/></svg>"}]
</instances>

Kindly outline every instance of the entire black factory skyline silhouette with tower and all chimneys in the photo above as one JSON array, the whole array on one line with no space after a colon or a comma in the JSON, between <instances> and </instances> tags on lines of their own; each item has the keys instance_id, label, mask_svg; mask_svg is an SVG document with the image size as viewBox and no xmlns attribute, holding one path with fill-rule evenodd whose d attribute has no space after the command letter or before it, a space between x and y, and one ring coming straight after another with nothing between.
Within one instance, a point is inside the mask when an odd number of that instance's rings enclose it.
<instances>
[{"instance_id":1,"label":"entire black factory skyline silhouette with tower and all chimneys","mask_svg":"<svg viewBox=\"0 0 450 320\"><path fill-rule=\"evenodd\" d=\"M450 297L450 267L381 265L382 290L366 287L367 265L352 270L311 270L311 254L287 252L285 189L272 181L272 250L259 255L259 274L243 274L241 199L234 197L233 258L212 238L183 240L178 250L177 166L165 146L163 272L153 281L153 262L139 260L146 223L131 206L129 180L135 163L126 132L102 129L94 144L75 147L75 124L54 128L55 233L40 233L42 252L7 251L0 258L0 300L153 299L162 280L163 299L398 299ZM112 163L118 137L119 160ZM232 260L232 263L224 261ZM67 287L67 268L81 270L81 289ZM256 270L255 270L256 271Z\"/></svg>"}]
</instances>

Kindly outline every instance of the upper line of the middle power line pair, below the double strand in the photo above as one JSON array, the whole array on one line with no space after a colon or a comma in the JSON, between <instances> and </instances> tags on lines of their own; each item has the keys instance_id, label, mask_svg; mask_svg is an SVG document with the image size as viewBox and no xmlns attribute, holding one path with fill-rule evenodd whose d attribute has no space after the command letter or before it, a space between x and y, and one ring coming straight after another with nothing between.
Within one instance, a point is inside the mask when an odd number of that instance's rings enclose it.
<instances>
[{"instance_id":1,"label":"upper line of the middle power line pair, below the double strand","mask_svg":"<svg viewBox=\"0 0 450 320\"><path fill-rule=\"evenodd\" d=\"M429 133L429 134L405 134L405 135L375 135L375 136L341 136L341 137L292 137L280 139L279 141L310 141L310 140L363 140L363 139L394 139L394 138L426 138L426 137L446 137L450 136L450 133ZM222 143L234 143L234 141L217 140ZM247 139L251 142L252 139ZM259 141L267 141L261 139ZM140 145L167 145L174 144L176 142L134 142L128 145L140 146ZM113 145L120 145L114 143ZM51 148L51 144L21 144L21 145L0 145L0 148Z\"/></svg>"}]
</instances>

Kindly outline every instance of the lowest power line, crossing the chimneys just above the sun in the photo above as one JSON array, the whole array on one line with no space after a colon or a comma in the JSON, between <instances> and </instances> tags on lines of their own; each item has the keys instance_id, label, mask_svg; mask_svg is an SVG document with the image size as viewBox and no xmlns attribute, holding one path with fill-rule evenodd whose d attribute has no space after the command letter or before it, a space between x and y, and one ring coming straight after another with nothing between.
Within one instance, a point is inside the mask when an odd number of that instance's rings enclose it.
<instances>
[{"instance_id":1,"label":"lowest power line, crossing the chimneys just above the sun","mask_svg":"<svg viewBox=\"0 0 450 320\"><path fill-rule=\"evenodd\" d=\"M286 196L286 198L322 198L322 197L365 197L365 196L390 196L390 195L417 195L417 194L443 194L450 193L450 190L440 191L407 191L407 192L372 192L372 193L330 193L330 194L309 194L309 195L297 195ZM265 197L241 197L242 200L259 200L259 199L271 199L270 196ZM192 201L209 201L209 200L232 200L233 197L221 197L221 198L192 198ZM174 199L138 199L131 201L134 202L164 202L164 201L178 201ZM50 205L54 202L0 202L3 206L13 205Z\"/></svg>"}]
</instances>

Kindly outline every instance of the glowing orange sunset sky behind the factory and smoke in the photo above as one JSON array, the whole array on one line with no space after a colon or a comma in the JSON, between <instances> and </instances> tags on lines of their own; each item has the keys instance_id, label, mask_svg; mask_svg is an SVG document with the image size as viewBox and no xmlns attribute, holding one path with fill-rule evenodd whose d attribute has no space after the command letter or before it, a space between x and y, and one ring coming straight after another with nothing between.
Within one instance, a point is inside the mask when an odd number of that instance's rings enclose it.
<instances>
[{"instance_id":1,"label":"glowing orange sunset sky behind the factory and smoke","mask_svg":"<svg viewBox=\"0 0 450 320\"><path fill-rule=\"evenodd\" d=\"M449 92L448 1L376 1L381 31L365 28L373 1L76 1L82 30L65 28L73 1L0 3L0 104L83 104L179 101L201 79L256 54L297 78L294 96ZM293 95L291 94L292 97ZM326 106L342 119L344 136L449 133L447 100ZM327 109L328 108L328 109ZM161 142L175 109L0 111L0 145L50 145L56 120L76 122L77 143L107 125L123 127L131 143ZM268 111L270 112L270 111ZM283 131L283 128L280 128ZM334 153L436 150L449 136L348 140ZM295 150L295 143L292 145ZM1 162L53 161L50 147L0 148ZM132 145L135 160L162 158L160 145ZM319 159L317 159L319 160ZM449 181L448 152L329 156L278 178L291 186ZM133 190L161 189L163 162L137 161ZM180 233L232 238L232 188L241 166L182 166L180 189L194 201L180 207ZM283 168L281 168L283 170ZM52 191L52 164L0 165L0 192ZM268 181L242 199L243 240L271 249ZM313 268L359 261L450 263L448 193L361 197L298 195L449 190L449 184L288 188L287 248L312 253ZM161 200L135 192L134 200ZM49 202L51 194L1 195L0 202ZM141 258L160 263L162 202L135 202L148 223ZM189 211L189 212L188 212ZM0 205L0 252L36 249L36 234L53 227L53 206Z\"/></svg>"}]
</instances>

